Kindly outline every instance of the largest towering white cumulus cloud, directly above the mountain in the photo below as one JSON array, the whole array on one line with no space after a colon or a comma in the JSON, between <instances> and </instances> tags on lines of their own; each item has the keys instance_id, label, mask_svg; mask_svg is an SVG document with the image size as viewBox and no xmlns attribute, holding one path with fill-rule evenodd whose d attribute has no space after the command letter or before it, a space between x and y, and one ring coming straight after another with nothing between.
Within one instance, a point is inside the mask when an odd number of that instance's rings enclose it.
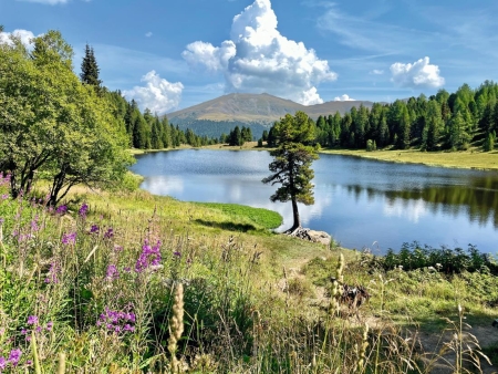
<instances>
[{"instance_id":1,"label":"largest towering white cumulus cloud, directly above the mountain","mask_svg":"<svg viewBox=\"0 0 498 374\"><path fill-rule=\"evenodd\" d=\"M196 41L181 53L187 63L222 73L226 92L270 93L304 105L323 103L317 85L336 80L325 60L277 30L270 0L256 0L234 18L230 40L215 46Z\"/></svg>"}]
</instances>

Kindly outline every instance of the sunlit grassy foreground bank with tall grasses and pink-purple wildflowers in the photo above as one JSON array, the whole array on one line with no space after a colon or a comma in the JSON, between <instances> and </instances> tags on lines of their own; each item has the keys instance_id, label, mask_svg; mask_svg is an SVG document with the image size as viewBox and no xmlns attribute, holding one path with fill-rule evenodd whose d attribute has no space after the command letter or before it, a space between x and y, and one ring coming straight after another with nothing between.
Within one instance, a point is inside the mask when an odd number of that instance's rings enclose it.
<instances>
[{"instance_id":1,"label":"sunlit grassy foreground bank with tall grasses and pink-purple wildflowers","mask_svg":"<svg viewBox=\"0 0 498 374\"><path fill-rule=\"evenodd\" d=\"M384 268L272 233L264 209L83 188L46 209L0 185L2 372L430 373L429 356L463 372L478 349L459 322L497 313L484 268ZM331 277L369 302L347 307Z\"/></svg>"}]
</instances>

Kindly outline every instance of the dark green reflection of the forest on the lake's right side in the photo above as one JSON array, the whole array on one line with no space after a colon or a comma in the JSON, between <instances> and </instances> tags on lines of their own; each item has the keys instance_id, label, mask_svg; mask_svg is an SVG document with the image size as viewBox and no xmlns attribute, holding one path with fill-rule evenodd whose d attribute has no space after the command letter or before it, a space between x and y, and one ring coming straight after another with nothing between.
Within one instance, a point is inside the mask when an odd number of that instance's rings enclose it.
<instances>
[{"instance_id":1,"label":"dark green reflection of the forest on the lake's right side","mask_svg":"<svg viewBox=\"0 0 498 374\"><path fill-rule=\"evenodd\" d=\"M376 196L385 196L392 205L403 199L404 208L408 208L408 201L422 199L428 202L427 208L432 214L443 211L456 217L464 212L479 225L486 225L492 219L495 228L498 228L498 176L469 179L468 185L436 185L405 190L382 190L361 185L345 188L356 202L364 193L369 201Z\"/></svg>"}]
</instances>

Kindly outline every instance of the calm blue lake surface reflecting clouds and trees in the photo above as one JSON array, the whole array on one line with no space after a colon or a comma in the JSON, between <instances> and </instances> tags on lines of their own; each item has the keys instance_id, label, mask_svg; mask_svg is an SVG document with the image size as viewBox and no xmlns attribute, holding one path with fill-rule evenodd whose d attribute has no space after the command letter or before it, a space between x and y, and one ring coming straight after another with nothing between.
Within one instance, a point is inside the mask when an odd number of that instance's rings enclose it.
<instances>
[{"instance_id":1,"label":"calm blue lake surface reflecting clouds and trees","mask_svg":"<svg viewBox=\"0 0 498 374\"><path fill-rule=\"evenodd\" d=\"M276 210L282 230L292 225L292 207L269 200L276 187L261 179L270 162L266 150L187 149L139 155L132 170L156 195ZM313 169L315 204L300 205L302 225L344 247L382 253L417 240L498 252L498 173L323 154Z\"/></svg>"}]
</instances>

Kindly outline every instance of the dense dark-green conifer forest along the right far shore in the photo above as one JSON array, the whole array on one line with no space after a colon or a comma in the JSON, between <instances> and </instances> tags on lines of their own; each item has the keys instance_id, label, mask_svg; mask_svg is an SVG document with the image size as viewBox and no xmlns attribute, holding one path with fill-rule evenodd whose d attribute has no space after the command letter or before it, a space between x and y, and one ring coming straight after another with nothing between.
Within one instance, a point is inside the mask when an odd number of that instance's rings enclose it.
<instances>
[{"instance_id":1,"label":"dense dark-green conifer forest along the right far shore","mask_svg":"<svg viewBox=\"0 0 498 374\"><path fill-rule=\"evenodd\" d=\"M452 94L440 90L428 98L422 94L392 104L375 103L372 108L352 107L344 115L320 116L315 142L322 147L370 150L465 150L473 146L487 152L494 149L498 131L497 96L498 84L486 81L476 90L464 84Z\"/></svg>"}]
</instances>

